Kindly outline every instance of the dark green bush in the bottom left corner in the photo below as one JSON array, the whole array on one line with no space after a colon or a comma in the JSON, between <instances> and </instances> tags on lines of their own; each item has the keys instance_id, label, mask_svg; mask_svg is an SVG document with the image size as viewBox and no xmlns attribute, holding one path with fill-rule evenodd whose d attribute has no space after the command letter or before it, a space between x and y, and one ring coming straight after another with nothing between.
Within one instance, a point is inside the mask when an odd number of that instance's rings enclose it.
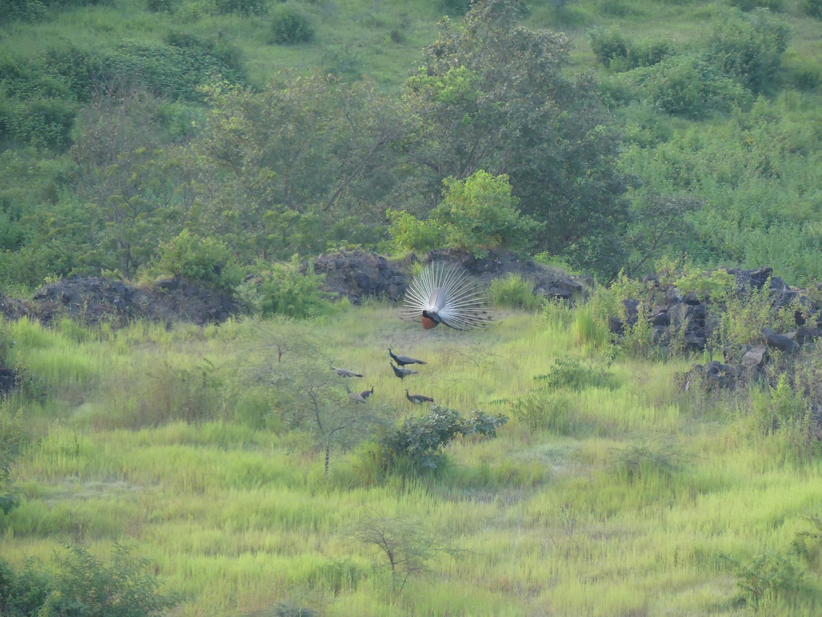
<instances>
[{"instance_id":1,"label":"dark green bush in the bottom left corner","mask_svg":"<svg viewBox=\"0 0 822 617\"><path fill-rule=\"evenodd\" d=\"M0 609L10 617L137 617L178 605L178 596L159 593L149 560L132 556L131 550L114 545L110 564L103 564L82 546L70 545L55 556L51 575L34 562L21 572L0 562Z\"/></svg>"}]
</instances>

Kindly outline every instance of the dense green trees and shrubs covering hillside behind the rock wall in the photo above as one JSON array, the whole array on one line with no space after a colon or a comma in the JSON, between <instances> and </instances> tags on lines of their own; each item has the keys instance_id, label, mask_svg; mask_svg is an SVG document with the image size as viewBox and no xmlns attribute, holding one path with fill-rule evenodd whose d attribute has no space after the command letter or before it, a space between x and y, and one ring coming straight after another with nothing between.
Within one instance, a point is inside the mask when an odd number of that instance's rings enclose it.
<instances>
[{"instance_id":1,"label":"dense green trees and shrubs covering hillside behind the rock wall","mask_svg":"<svg viewBox=\"0 0 822 617\"><path fill-rule=\"evenodd\" d=\"M168 273L180 234L246 271L496 244L815 279L814 2L621 4L6 0L0 282ZM455 209L483 174L505 203Z\"/></svg>"}]
</instances>

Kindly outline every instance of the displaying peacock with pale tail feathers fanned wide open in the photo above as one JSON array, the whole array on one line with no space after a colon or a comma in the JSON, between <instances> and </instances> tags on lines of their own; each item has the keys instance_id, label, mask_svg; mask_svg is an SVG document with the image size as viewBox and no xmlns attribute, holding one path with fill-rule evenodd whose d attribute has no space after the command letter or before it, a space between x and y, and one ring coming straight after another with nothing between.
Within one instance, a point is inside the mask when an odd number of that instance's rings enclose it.
<instances>
[{"instance_id":1,"label":"displaying peacock with pale tail feathers fanned wide open","mask_svg":"<svg viewBox=\"0 0 822 617\"><path fill-rule=\"evenodd\" d=\"M411 281L400 317L431 330L441 323L470 330L491 323L488 299L468 272L459 266L431 263Z\"/></svg>"}]
</instances>

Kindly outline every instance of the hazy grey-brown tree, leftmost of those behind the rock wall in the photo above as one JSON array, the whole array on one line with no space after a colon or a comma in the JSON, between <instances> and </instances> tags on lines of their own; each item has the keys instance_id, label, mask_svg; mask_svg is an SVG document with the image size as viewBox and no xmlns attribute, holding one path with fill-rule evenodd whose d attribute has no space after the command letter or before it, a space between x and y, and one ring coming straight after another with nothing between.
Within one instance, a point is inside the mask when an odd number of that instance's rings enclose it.
<instances>
[{"instance_id":1,"label":"hazy grey-brown tree, leftmost of those behind the rock wall","mask_svg":"<svg viewBox=\"0 0 822 617\"><path fill-rule=\"evenodd\" d=\"M67 235L88 242L78 251L88 270L132 277L179 231L192 193L161 132L157 101L128 84L99 92L87 110L72 157L89 230Z\"/></svg>"}]
</instances>

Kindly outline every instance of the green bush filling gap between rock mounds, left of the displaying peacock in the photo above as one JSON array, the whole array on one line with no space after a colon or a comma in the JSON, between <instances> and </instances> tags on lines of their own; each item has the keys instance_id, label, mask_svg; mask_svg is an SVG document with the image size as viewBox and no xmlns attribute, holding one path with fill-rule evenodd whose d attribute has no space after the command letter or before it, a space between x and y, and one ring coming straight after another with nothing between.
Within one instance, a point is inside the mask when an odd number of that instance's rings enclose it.
<instances>
[{"instance_id":1,"label":"green bush filling gap between rock mounds, left of the displaying peacock","mask_svg":"<svg viewBox=\"0 0 822 617\"><path fill-rule=\"evenodd\" d=\"M320 290L325 275L315 274L294 255L290 262L257 262L254 276L237 287L237 297L249 313L309 318L326 307Z\"/></svg>"}]
</instances>

